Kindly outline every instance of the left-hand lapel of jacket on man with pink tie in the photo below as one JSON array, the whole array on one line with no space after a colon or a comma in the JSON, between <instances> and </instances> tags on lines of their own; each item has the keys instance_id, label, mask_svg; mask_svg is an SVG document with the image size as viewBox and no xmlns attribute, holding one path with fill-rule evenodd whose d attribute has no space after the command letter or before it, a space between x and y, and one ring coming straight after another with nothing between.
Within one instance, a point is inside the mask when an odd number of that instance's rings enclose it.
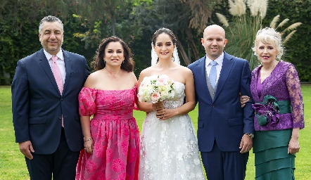
<instances>
[{"instance_id":1,"label":"left-hand lapel of jacket on man with pink tie","mask_svg":"<svg viewBox=\"0 0 311 180\"><path fill-rule=\"evenodd\" d=\"M56 84L56 80L55 80L53 72L51 70L51 66L49 65L49 61L46 59L46 56L44 54L43 49L38 51L38 57L39 57L39 64L42 66L42 69L46 73L46 76L49 77L51 84L54 86L54 88L56 89L58 94L61 95L61 92L58 89L58 86Z\"/></svg>"}]
</instances>

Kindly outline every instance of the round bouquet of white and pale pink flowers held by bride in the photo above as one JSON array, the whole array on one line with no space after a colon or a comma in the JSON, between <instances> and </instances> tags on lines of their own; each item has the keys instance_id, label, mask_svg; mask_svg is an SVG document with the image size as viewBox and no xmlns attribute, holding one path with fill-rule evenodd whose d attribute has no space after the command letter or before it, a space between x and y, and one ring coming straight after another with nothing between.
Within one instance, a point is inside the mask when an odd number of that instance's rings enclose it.
<instances>
[{"instance_id":1,"label":"round bouquet of white and pale pink flowers held by bride","mask_svg":"<svg viewBox=\"0 0 311 180\"><path fill-rule=\"evenodd\" d=\"M158 103L175 95L174 80L167 75L152 75L144 77L138 90L140 102Z\"/></svg>"}]
</instances>

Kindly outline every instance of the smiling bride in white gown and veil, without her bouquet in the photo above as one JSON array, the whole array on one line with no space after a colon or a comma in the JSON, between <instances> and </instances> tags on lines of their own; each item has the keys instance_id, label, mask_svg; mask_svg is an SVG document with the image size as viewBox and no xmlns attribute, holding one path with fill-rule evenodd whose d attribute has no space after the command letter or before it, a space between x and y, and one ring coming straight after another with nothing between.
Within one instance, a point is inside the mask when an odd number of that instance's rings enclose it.
<instances>
[{"instance_id":1,"label":"smiling bride in white gown and veil, without her bouquet","mask_svg":"<svg viewBox=\"0 0 311 180\"><path fill-rule=\"evenodd\" d=\"M174 80L176 91L163 102L138 102L139 110L148 112L141 131L139 179L205 179L195 130L187 114L196 106L192 72L179 65L177 51L173 54L176 38L171 30L157 30L152 46L153 65L141 72L138 86L144 77L167 75Z\"/></svg>"}]
</instances>

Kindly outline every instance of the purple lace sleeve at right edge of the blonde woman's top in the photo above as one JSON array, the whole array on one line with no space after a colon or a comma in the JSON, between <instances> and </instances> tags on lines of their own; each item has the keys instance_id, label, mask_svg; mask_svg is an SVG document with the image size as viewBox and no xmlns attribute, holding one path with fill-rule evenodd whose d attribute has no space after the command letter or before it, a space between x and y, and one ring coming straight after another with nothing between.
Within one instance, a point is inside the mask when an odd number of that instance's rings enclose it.
<instances>
[{"instance_id":1,"label":"purple lace sleeve at right edge of the blonde woman's top","mask_svg":"<svg viewBox=\"0 0 311 180\"><path fill-rule=\"evenodd\" d=\"M290 65L286 72L286 86L291 100L291 107L293 109L293 128L299 127L300 129L303 129L305 127L303 95L300 89L298 72L293 65Z\"/></svg>"}]
</instances>

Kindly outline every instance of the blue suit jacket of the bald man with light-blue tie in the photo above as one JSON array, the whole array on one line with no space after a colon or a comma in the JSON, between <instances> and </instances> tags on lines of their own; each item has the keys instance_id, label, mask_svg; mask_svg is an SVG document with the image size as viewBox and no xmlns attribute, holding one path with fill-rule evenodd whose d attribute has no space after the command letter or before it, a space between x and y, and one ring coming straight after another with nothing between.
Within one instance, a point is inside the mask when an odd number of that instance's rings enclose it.
<instances>
[{"instance_id":1,"label":"blue suit jacket of the bald man with light-blue tie","mask_svg":"<svg viewBox=\"0 0 311 180\"><path fill-rule=\"evenodd\" d=\"M212 150L214 140L222 151L239 151L244 133L254 133L252 98L244 108L239 92L250 96L250 68L247 60L224 52L222 70L214 101L205 77L205 58L189 65L193 72L198 102L198 146L201 152Z\"/></svg>"}]
</instances>

